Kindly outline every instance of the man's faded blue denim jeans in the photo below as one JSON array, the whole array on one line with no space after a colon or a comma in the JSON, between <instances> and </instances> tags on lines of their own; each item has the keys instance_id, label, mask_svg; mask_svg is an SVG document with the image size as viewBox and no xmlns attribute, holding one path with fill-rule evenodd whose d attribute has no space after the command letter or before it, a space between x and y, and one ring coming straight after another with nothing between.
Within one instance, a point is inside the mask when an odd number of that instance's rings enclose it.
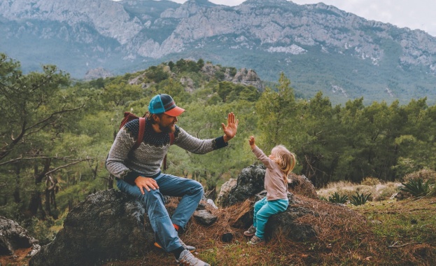
<instances>
[{"instance_id":1,"label":"man's faded blue denim jeans","mask_svg":"<svg viewBox=\"0 0 436 266\"><path fill-rule=\"evenodd\" d=\"M130 185L123 180L119 179L117 186L122 192L136 197L145 205L157 243L164 248L164 251L171 252L181 247L173 223L185 228L197 209L204 190L202 184L195 180L169 174L160 174L155 181L159 189L150 191L144 189L144 195L136 185ZM182 197L172 218L169 218L168 211L165 209L163 195Z\"/></svg>"}]
</instances>

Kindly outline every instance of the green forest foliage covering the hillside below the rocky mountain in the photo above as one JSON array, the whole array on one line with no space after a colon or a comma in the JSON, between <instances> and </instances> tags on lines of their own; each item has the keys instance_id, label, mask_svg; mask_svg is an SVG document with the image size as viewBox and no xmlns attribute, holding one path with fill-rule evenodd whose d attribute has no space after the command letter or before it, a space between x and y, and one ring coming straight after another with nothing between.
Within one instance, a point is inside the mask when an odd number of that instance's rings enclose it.
<instances>
[{"instance_id":1,"label":"green forest foliage covering the hillside below the rocky mountain","mask_svg":"<svg viewBox=\"0 0 436 266\"><path fill-rule=\"evenodd\" d=\"M1 55L0 214L55 219L89 193L113 188L104 164L122 114L142 115L157 93L171 94L187 110L178 125L200 139L220 136L227 113L237 115L238 134L227 148L206 155L169 149L167 172L197 179L211 197L220 183L256 162L250 135L264 151L277 144L293 151L294 172L316 188L339 181L367 186L336 190L329 200L352 200L353 193L385 200L398 190L395 180L407 183L416 175L425 187L426 180L436 179L428 170L436 169L436 106L428 106L426 98L401 106L398 101L365 105L361 97L332 106L321 92L310 99L296 94L285 73L258 90L225 81L237 73L235 67L202 71L204 66L203 59L179 59L73 82L56 66L24 75L19 62ZM433 181L428 192L435 189Z\"/></svg>"}]
</instances>

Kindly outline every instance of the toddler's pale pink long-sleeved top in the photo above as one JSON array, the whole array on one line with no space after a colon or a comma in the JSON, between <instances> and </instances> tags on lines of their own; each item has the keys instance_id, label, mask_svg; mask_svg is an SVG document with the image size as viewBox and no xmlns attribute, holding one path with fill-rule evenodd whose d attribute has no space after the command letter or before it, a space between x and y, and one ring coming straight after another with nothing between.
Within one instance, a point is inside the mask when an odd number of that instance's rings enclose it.
<instances>
[{"instance_id":1,"label":"toddler's pale pink long-sleeved top","mask_svg":"<svg viewBox=\"0 0 436 266\"><path fill-rule=\"evenodd\" d=\"M269 159L258 147L253 148L253 153L266 167L265 189L267 190L267 200L288 200L288 183L285 183L283 171L279 165Z\"/></svg>"}]
</instances>

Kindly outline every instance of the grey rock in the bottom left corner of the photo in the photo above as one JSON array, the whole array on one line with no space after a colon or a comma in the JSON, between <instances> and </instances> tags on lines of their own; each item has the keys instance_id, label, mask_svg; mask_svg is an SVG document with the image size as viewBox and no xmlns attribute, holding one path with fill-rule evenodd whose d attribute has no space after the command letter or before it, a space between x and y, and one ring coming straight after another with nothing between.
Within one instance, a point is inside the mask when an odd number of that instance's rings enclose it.
<instances>
[{"instance_id":1,"label":"grey rock in the bottom left corner of the photo","mask_svg":"<svg viewBox=\"0 0 436 266\"><path fill-rule=\"evenodd\" d=\"M27 230L17 222L0 216L0 255L13 255L17 249L29 247L32 249L28 256L41 249L39 241L31 237Z\"/></svg>"}]
</instances>

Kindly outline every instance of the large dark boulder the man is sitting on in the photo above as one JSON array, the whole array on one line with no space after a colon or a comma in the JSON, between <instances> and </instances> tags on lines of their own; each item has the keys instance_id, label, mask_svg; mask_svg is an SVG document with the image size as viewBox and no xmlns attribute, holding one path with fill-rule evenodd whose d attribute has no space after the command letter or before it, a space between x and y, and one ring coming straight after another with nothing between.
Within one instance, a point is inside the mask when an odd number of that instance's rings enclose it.
<instances>
[{"instance_id":1,"label":"large dark boulder the man is sitting on","mask_svg":"<svg viewBox=\"0 0 436 266\"><path fill-rule=\"evenodd\" d=\"M98 265L143 255L154 233L143 206L119 190L89 195L71 209L64 228L29 261L29 266Z\"/></svg>"}]
</instances>

